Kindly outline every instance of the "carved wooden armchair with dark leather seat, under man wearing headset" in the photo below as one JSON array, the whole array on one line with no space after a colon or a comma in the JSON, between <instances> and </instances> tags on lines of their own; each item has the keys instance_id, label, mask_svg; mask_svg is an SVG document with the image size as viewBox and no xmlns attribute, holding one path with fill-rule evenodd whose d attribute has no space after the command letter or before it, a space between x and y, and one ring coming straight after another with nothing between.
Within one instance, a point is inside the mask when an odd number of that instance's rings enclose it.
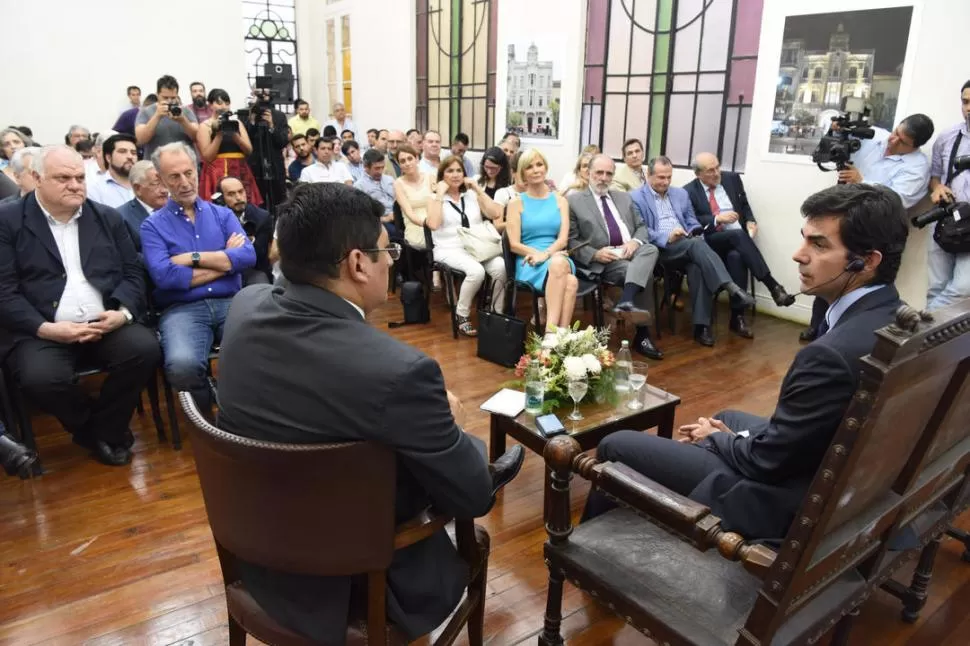
<instances>
[{"instance_id":1,"label":"carved wooden armchair with dark leather seat, under man wearing headset","mask_svg":"<svg viewBox=\"0 0 970 646\"><path fill-rule=\"evenodd\" d=\"M970 440L957 422L970 406L968 311L970 302L931 325L904 306L876 333L777 551L725 532L706 506L623 464L581 454L572 438L554 438L544 453L549 595L539 643L562 643L568 579L664 645L807 644L835 626L831 643L844 644L858 606L967 499ZM573 527L573 473L620 506ZM924 514L936 515L914 529ZM907 533L919 537L908 548Z\"/></svg>"}]
</instances>

